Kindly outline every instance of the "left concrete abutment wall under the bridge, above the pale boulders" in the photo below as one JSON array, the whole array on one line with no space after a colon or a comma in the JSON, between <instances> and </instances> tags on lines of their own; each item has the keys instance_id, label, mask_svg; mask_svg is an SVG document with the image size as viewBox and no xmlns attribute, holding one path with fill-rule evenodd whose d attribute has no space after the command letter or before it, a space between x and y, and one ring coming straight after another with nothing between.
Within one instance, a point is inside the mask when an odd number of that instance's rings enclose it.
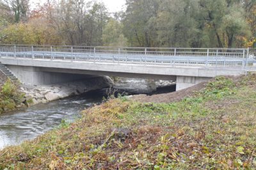
<instances>
[{"instance_id":1,"label":"left concrete abutment wall under the bridge, above the pale boulders","mask_svg":"<svg viewBox=\"0 0 256 170\"><path fill-rule=\"evenodd\" d=\"M91 75L72 73L42 72L33 66L6 65L13 75L26 85L46 85L88 79Z\"/></svg>"}]
</instances>

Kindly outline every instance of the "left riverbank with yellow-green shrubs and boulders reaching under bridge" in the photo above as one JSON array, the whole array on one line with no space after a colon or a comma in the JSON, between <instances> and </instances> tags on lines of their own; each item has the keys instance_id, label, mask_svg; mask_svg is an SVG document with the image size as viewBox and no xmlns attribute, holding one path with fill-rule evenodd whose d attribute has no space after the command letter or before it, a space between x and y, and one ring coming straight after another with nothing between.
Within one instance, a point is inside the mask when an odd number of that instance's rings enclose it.
<instances>
[{"instance_id":1,"label":"left riverbank with yellow-green shrubs and boulders reaching under bridge","mask_svg":"<svg viewBox=\"0 0 256 170\"><path fill-rule=\"evenodd\" d=\"M26 86L2 77L0 83L0 114L17 111L36 104L45 104L62 98L82 95L111 86L113 86L113 82L109 77L92 77L82 81L42 86Z\"/></svg>"}]
</instances>

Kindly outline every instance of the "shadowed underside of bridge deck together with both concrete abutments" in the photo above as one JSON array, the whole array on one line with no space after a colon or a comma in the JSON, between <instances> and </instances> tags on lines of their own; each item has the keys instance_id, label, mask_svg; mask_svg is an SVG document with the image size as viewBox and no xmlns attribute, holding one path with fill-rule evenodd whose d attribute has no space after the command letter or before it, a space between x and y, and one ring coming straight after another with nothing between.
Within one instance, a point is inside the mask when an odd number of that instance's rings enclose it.
<instances>
[{"instance_id":1,"label":"shadowed underside of bridge deck together with both concrete abutments","mask_svg":"<svg viewBox=\"0 0 256 170\"><path fill-rule=\"evenodd\" d=\"M133 74L133 73L116 73L116 72L102 72L92 70L74 70L63 68L45 68L34 66L14 66L6 65L13 74L26 85L46 85L61 82L70 82L84 80L92 77L108 75L116 77L140 78L140 79L154 79L176 81L176 90L189 88L202 81L207 81L209 77L188 77L175 75L153 75L153 74Z\"/></svg>"}]
</instances>

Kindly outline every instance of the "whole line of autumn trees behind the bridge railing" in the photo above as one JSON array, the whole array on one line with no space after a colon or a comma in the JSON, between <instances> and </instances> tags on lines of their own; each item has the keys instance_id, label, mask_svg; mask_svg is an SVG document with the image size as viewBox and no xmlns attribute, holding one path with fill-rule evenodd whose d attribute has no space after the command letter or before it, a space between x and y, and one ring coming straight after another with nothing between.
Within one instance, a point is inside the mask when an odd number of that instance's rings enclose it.
<instances>
[{"instance_id":1,"label":"whole line of autumn trees behind the bridge railing","mask_svg":"<svg viewBox=\"0 0 256 170\"><path fill-rule=\"evenodd\" d=\"M0 0L0 43L132 47L256 46L256 0Z\"/></svg>"}]
</instances>

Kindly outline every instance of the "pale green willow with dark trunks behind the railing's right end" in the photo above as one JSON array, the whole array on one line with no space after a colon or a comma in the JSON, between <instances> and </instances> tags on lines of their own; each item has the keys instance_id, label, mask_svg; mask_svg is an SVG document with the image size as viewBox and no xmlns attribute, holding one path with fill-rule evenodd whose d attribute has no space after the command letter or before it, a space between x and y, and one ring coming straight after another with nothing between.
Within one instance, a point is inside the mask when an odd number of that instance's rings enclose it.
<instances>
[{"instance_id":1,"label":"pale green willow with dark trunks behind the railing's right end","mask_svg":"<svg viewBox=\"0 0 256 170\"><path fill-rule=\"evenodd\" d=\"M237 36L250 35L241 1L201 0L204 32L218 47L233 47Z\"/></svg>"}]
</instances>

